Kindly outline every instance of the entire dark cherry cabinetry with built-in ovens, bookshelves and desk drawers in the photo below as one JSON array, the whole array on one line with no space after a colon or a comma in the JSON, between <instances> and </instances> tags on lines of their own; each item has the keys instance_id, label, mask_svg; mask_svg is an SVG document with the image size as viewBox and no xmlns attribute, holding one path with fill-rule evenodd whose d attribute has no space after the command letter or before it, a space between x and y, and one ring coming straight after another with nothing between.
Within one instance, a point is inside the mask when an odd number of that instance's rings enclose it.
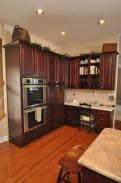
<instances>
[{"instance_id":1,"label":"entire dark cherry cabinetry with built-in ovens, bookshelves and desk drawers","mask_svg":"<svg viewBox=\"0 0 121 183\"><path fill-rule=\"evenodd\" d=\"M63 124L78 126L80 109L73 105L64 107L68 97L66 90L87 89L90 93L95 92L94 89L107 90L109 94L114 90L117 52L67 57L33 48L22 41L4 48L9 140L18 146ZM81 96L78 102L83 98ZM111 112L93 111L97 132L113 126Z\"/></svg>"}]
</instances>

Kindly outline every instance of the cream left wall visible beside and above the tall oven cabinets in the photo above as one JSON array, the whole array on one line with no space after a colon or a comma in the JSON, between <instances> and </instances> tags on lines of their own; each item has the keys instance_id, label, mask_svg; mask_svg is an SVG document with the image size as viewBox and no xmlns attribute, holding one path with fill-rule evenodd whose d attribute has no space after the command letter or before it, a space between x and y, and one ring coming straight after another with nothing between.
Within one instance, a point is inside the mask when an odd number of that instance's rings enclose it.
<instances>
[{"instance_id":1,"label":"cream left wall visible beside and above the tall oven cabinets","mask_svg":"<svg viewBox=\"0 0 121 183\"><path fill-rule=\"evenodd\" d=\"M8 24L0 23L0 38L2 39L3 45L8 44L12 41L12 32L13 26ZM31 42L40 43L42 46L48 46L51 48L52 51L61 52L59 46L43 40L35 36L34 34L30 33ZM4 100L5 100L5 117L0 121L0 142L6 141L8 139L8 116L7 116L7 91L6 91L6 67L5 67L5 51L4 48L2 50L2 57L3 57L3 77L4 77Z\"/></svg>"}]
</instances>

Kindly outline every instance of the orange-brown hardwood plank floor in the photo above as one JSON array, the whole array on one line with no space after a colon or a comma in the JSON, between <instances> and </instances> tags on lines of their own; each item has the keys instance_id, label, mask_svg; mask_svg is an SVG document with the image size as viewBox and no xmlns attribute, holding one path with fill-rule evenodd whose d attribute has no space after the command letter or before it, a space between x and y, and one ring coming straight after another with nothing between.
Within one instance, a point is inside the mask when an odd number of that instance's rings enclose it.
<instances>
[{"instance_id":1,"label":"orange-brown hardwood plank floor","mask_svg":"<svg viewBox=\"0 0 121 183\"><path fill-rule=\"evenodd\" d=\"M0 144L0 183L56 183L60 158L74 145L87 148L96 136L62 126L22 148ZM71 176L72 183L76 178Z\"/></svg>"}]
</instances>

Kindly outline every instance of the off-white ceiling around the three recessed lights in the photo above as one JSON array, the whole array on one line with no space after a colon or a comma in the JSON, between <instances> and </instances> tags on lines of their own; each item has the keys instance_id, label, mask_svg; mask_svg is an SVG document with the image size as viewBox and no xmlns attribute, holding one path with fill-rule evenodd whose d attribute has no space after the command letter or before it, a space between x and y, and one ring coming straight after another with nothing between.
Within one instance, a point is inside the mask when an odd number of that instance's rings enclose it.
<instances>
[{"instance_id":1,"label":"off-white ceiling around the three recessed lights","mask_svg":"<svg viewBox=\"0 0 121 183\"><path fill-rule=\"evenodd\" d=\"M38 8L45 15L37 16ZM105 25L100 26L99 19L105 19ZM0 20L18 24L65 51L79 54L117 41L121 0L0 0ZM61 31L66 32L64 37Z\"/></svg>"}]
</instances>

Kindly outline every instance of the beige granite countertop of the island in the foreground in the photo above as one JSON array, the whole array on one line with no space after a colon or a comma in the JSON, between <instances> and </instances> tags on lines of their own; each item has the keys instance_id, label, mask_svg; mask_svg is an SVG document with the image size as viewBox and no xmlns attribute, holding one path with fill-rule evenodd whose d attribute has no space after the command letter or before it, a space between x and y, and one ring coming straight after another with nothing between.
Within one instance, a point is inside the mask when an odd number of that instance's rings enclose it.
<instances>
[{"instance_id":1,"label":"beige granite countertop of the island in the foreground","mask_svg":"<svg viewBox=\"0 0 121 183\"><path fill-rule=\"evenodd\" d=\"M121 131L105 128L78 163L121 183Z\"/></svg>"}]
</instances>

